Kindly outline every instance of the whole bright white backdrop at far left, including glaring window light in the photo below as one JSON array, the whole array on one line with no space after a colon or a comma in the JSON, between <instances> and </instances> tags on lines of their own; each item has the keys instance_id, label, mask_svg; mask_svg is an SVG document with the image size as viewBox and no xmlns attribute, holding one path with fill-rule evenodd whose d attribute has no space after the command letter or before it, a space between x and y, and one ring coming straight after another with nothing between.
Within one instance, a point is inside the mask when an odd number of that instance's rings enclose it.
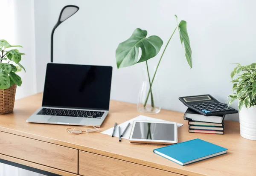
<instances>
[{"instance_id":1,"label":"whole bright white backdrop at far left, including glaring window light","mask_svg":"<svg viewBox=\"0 0 256 176\"><path fill-rule=\"evenodd\" d=\"M23 98L36 93L35 77L35 24L33 0L1 0L0 16L3 18L0 27L0 39L7 40L26 55L20 63L25 67L18 72L22 79L21 87L17 87L15 98Z\"/></svg>"}]
</instances>

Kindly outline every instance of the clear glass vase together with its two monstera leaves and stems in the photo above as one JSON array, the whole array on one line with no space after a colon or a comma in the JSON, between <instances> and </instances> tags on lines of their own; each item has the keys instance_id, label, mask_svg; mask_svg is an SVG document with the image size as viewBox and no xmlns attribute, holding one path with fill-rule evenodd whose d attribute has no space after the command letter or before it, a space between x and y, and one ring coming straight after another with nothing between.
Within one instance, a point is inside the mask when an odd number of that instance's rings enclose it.
<instances>
[{"instance_id":1,"label":"clear glass vase together with its two monstera leaves and stems","mask_svg":"<svg viewBox=\"0 0 256 176\"><path fill-rule=\"evenodd\" d=\"M177 20L177 15L175 15L175 17ZM124 42L119 43L116 49L116 65L118 69L127 66L132 66L136 63L145 62L146 69L143 69L143 83L139 93L137 104L138 111L142 113L154 114L160 112L160 98L159 96L157 96L157 87L155 87L156 73L159 64L163 58L164 52L166 51L166 48L176 30L179 32L181 45L183 44L184 46L186 60L190 68L192 68L192 51L190 48L186 21L184 20L181 20L180 23L178 23L177 20L177 26L175 27L171 37L166 43L163 53L156 66L156 69L154 70L153 77L150 76L149 73L148 60L150 58L154 58L160 51L161 46L163 45L163 40L160 37L152 35L147 38L146 36L148 32L146 30L137 28L134 30L131 37L125 40ZM139 48L141 49L140 59L138 59Z\"/></svg>"}]
</instances>

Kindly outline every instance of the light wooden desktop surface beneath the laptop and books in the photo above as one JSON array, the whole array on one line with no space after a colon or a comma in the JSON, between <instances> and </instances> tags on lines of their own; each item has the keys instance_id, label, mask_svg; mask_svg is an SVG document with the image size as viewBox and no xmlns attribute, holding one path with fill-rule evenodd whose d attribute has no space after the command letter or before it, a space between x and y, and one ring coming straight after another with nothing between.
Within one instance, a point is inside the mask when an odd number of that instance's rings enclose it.
<instances>
[{"instance_id":1,"label":"light wooden desktop surface beneath the laptop and books","mask_svg":"<svg viewBox=\"0 0 256 176\"><path fill-rule=\"evenodd\" d=\"M32 124L26 119L41 107L42 94L32 95L15 101L14 113L0 115L0 131L33 138L52 144L71 147L103 156L121 159L149 167L158 168L186 176L255 176L256 175L256 141L244 139L239 134L239 123L225 121L224 135L196 134L188 132L187 121L183 113L161 110L157 115L148 115L168 121L183 123L178 128L178 142L194 138L212 142L228 149L228 153L201 162L180 166L153 153L154 145L129 144L128 140L119 142L101 133L70 135L66 128L70 126L52 124ZM136 104L111 101L110 112L101 130L121 124L140 115Z\"/></svg>"}]
</instances>

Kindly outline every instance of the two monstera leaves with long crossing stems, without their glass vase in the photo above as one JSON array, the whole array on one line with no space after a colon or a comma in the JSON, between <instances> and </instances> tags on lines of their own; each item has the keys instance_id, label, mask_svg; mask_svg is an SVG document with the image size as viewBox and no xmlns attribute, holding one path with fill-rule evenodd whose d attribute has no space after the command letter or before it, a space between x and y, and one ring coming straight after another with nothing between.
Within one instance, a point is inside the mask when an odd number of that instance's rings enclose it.
<instances>
[{"instance_id":1,"label":"two monstera leaves with long crossing stems, without their glass vase","mask_svg":"<svg viewBox=\"0 0 256 176\"><path fill-rule=\"evenodd\" d=\"M175 18L177 20L177 15L175 15ZM184 49L185 49L186 60L189 64L190 68L192 68L192 57L191 57L192 51L190 48L189 35L187 32L186 21L184 21L184 20L181 20L180 23L178 23L178 20L177 20L177 26L175 27L174 31L172 32L171 37L169 38L168 42L166 43L163 53L160 56L160 59L157 63L157 67L156 67L156 70L154 72L152 79L150 78L150 75L148 72L148 62L147 61L150 58L154 58L160 51L161 46L163 45L163 40L160 37L158 37L156 35L152 35L147 38L146 37L147 31L137 28L134 30L131 37L128 38L127 40L125 40L124 42L120 43L116 49L116 65L117 65L118 69L127 67L127 66L132 66L136 63L141 63L141 62L146 63L150 88L148 90L148 94L147 94L147 97L146 97L146 100L144 103L144 107L147 104L149 95L151 96L151 107L154 107L154 98L153 98L153 94L151 91L151 87L154 82L154 78L156 76L157 69L158 69L160 62L163 58L163 55L166 51L166 48L177 29L179 31L181 45L183 44ZM141 57L138 60L139 48L141 48Z\"/></svg>"}]
</instances>

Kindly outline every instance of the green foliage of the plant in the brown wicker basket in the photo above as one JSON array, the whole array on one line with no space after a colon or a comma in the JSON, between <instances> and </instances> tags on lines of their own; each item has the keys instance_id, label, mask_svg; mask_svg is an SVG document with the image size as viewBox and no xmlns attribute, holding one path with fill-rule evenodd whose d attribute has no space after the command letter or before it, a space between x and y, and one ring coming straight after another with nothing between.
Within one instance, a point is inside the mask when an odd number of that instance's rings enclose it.
<instances>
[{"instance_id":1,"label":"green foliage of the plant in the brown wicker basket","mask_svg":"<svg viewBox=\"0 0 256 176\"><path fill-rule=\"evenodd\" d=\"M20 45L10 45L6 40L0 40L0 89L8 89L13 84L20 86L22 84L20 76L15 72L21 71L24 67L20 64L21 56L17 49L13 47L22 47ZM15 66L17 64L17 66ZM26 72L26 70L24 69Z\"/></svg>"}]
</instances>

